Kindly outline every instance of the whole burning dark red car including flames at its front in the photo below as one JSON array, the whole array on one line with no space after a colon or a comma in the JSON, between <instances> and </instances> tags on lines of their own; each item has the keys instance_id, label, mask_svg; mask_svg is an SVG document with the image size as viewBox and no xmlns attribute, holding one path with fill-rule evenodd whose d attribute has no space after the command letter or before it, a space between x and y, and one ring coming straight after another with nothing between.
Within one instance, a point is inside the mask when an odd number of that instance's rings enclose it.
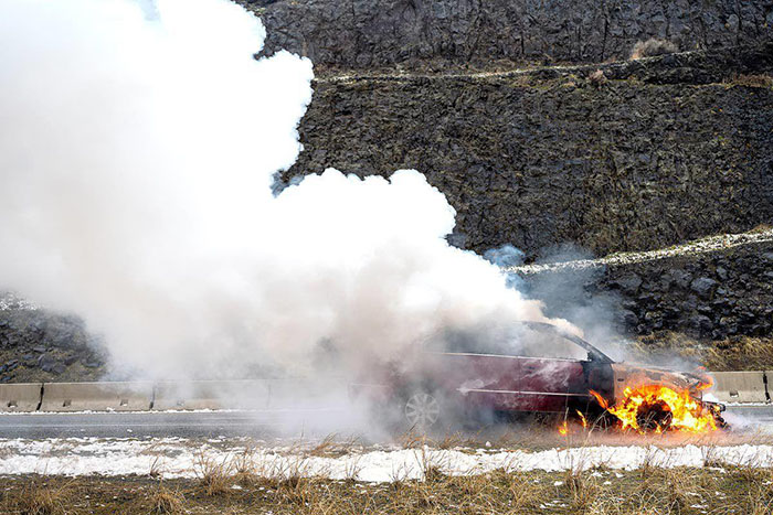
<instances>
[{"instance_id":1,"label":"whole burning dark red car including flames at its front","mask_svg":"<svg viewBox=\"0 0 773 515\"><path fill-rule=\"evenodd\" d=\"M479 414L559 414L612 421L639 432L708 431L723 406L703 400L701 373L616 363L583 339L547 323L444 334L352 385L368 390L383 417L430 429Z\"/></svg>"}]
</instances>

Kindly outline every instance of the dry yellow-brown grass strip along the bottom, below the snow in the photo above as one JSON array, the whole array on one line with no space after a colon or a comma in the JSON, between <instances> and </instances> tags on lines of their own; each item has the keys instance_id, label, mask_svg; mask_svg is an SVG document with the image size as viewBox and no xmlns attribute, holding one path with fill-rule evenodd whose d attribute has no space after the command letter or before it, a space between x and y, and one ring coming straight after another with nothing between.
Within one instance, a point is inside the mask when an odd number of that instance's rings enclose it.
<instances>
[{"instance_id":1,"label":"dry yellow-brown grass strip along the bottom, below the snow","mask_svg":"<svg viewBox=\"0 0 773 515\"><path fill-rule=\"evenodd\" d=\"M709 463L710 464L710 463ZM8 514L182 513L555 513L555 514L770 514L773 470L705 466L636 471L508 472L425 481L232 476L227 487L202 490L197 480L45 478L0 480ZM56 501L51 502L54 498Z\"/></svg>"}]
</instances>

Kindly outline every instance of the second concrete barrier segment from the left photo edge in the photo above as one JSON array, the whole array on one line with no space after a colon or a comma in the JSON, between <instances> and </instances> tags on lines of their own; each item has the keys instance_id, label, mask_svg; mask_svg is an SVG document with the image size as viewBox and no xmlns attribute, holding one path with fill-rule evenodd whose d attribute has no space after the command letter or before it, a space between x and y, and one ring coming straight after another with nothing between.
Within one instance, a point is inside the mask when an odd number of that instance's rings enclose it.
<instances>
[{"instance_id":1,"label":"second concrete barrier segment from the left photo edge","mask_svg":"<svg viewBox=\"0 0 773 515\"><path fill-rule=\"evenodd\" d=\"M144 411L152 383L45 383L41 411Z\"/></svg>"}]
</instances>

